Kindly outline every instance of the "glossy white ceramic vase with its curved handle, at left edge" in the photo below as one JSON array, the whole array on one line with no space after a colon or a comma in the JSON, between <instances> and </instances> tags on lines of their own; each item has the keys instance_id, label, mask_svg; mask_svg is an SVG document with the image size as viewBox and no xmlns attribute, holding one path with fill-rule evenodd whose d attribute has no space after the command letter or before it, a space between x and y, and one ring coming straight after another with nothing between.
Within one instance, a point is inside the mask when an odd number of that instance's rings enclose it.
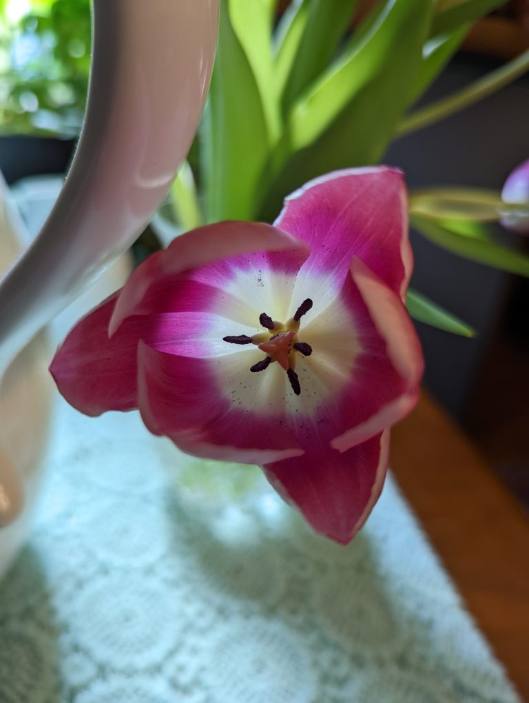
<instances>
[{"instance_id":1,"label":"glossy white ceramic vase with its curved handle, at left edge","mask_svg":"<svg viewBox=\"0 0 529 703\"><path fill-rule=\"evenodd\" d=\"M213 66L218 0L94 0L93 10L79 145L53 212L13 266L22 230L1 186L0 574L25 534L47 435L39 330L150 221L188 152Z\"/></svg>"}]
</instances>

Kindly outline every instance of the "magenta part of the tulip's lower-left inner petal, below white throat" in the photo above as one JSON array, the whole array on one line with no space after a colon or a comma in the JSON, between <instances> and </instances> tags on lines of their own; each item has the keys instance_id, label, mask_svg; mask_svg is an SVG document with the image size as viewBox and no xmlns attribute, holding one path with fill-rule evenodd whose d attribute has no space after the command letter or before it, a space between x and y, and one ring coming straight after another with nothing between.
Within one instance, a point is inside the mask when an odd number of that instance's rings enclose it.
<instances>
[{"instance_id":1,"label":"magenta part of the tulip's lower-left inner petal, below white throat","mask_svg":"<svg viewBox=\"0 0 529 703\"><path fill-rule=\"evenodd\" d=\"M226 461L261 464L303 450L281 415L254 413L223 396L216 360L138 347L138 406L145 425L183 451Z\"/></svg>"}]
</instances>

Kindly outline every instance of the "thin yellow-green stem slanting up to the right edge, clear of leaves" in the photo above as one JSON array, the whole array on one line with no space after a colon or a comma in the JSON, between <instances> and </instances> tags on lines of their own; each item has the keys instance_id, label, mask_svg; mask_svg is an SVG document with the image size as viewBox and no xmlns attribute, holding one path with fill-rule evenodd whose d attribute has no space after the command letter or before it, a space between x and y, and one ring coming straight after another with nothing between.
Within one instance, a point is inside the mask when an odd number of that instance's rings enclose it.
<instances>
[{"instance_id":1,"label":"thin yellow-green stem slanting up to the right edge, clear of leaves","mask_svg":"<svg viewBox=\"0 0 529 703\"><path fill-rule=\"evenodd\" d=\"M466 86L463 90L448 96L448 98L443 98L432 105L426 105L426 108L412 112L400 122L396 134L397 136L410 134L410 132L427 127L433 122L443 120L444 117L495 93L503 86L513 82L518 76L523 75L527 70L529 70L529 50Z\"/></svg>"}]
</instances>

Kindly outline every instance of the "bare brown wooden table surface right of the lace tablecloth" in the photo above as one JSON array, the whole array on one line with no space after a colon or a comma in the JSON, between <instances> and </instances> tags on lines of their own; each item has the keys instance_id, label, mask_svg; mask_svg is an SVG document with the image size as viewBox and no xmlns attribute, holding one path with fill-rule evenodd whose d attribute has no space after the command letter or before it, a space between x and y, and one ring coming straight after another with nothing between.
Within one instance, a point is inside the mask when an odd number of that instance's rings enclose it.
<instances>
[{"instance_id":1,"label":"bare brown wooden table surface right of the lace tablecloth","mask_svg":"<svg viewBox=\"0 0 529 703\"><path fill-rule=\"evenodd\" d=\"M391 467L459 593L529 701L529 517L429 396L393 428Z\"/></svg>"}]
</instances>

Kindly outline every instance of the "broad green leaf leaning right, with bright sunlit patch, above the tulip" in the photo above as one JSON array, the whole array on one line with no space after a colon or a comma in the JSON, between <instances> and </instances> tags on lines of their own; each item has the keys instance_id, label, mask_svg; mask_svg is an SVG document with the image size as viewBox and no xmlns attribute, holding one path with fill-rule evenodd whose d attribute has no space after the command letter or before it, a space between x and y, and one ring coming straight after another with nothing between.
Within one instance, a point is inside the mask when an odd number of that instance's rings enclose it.
<instances>
[{"instance_id":1,"label":"broad green leaf leaning right, with bright sunlit patch, above the tulip","mask_svg":"<svg viewBox=\"0 0 529 703\"><path fill-rule=\"evenodd\" d=\"M410 102L430 15L430 0L388 0L363 41L296 101L263 170L260 217L277 214L303 181L379 161Z\"/></svg>"}]
</instances>

